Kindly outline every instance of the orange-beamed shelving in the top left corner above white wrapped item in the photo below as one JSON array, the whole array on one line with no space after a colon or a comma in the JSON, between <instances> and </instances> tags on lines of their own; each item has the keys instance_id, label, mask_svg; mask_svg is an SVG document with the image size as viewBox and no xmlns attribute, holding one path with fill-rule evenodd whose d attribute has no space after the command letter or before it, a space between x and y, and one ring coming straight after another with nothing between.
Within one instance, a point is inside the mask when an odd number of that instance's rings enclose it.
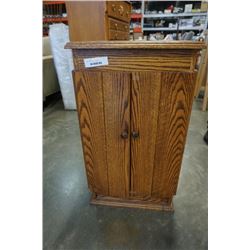
<instances>
[{"instance_id":1,"label":"orange-beamed shelving in the top left corner above white wrapped item","mask_svg":"<svg viewBox=\"0 0 250 250\"><path fill-rule=\"evenodd\" d=\"M68 23L65 1L43 1L43 36L48 35L53 23Z\"/></svg>"}]
</instances>

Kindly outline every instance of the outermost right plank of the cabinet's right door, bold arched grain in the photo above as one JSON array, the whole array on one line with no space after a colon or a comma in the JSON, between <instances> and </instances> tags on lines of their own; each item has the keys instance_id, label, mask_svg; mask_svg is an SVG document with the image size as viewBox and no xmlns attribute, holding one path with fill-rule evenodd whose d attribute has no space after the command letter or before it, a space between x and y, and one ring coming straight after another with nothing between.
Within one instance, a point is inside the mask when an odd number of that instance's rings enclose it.
<instances>
[{"instance_id":1,"label":"outermost right plank of the cabinet's right door, bold arched grain","mask_svg":"<svg viewBox=\"0 0 250 250\"><path fill-rule=\"evenodd\" d=\"M162 73L152 196L176 193L192 109L195 74Z\"/></svg>"}]
</instances>

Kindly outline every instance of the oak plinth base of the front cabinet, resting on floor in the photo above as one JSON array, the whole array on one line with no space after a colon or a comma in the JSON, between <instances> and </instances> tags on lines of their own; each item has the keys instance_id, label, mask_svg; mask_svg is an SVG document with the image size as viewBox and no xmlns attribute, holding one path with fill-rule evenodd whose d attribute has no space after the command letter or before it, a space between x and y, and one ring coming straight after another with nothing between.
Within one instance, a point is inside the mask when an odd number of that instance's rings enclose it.
<instances>
[{"instance_id":1,"label":"oak plinth base of the front cabinet, resting on floor","mask_svg":"<svg viewBox=\"0 0 250 250\"><path fill-rule=\"evenodd\" d=\"M128 208L143 208L160 211L174 211L172 199L168 201L162 200L135 200L135 199L119 199L108 196L92 195L90 204L104 205L112 207L128 207Z\"/></svg>"}]
</instances>

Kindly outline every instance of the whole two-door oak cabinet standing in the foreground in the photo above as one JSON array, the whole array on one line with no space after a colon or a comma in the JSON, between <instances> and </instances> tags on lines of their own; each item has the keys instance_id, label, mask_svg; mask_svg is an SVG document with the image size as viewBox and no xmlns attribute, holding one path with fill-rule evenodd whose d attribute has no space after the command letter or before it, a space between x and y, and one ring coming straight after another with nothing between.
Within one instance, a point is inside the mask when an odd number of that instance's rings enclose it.
<instances>
[{"instance_id":1,"label":"whole two-door oak cabinet standing in the foreground","mask_svg":"<svg viewBox=\"0 0 250 250\"><path fill-rule=\"evenodd\" d=\"M82 42L73 50L91 204L173 210L201 42ZM108 57L86 68L84 59Z\"/></svg>"}]
</instances>

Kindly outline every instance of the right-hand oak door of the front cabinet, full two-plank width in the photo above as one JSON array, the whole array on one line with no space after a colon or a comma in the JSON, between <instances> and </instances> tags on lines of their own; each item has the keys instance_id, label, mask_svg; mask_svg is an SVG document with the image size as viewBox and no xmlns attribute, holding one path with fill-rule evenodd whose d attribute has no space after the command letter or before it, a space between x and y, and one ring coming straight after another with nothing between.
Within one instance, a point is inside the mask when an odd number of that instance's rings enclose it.
<instances>
[{"instance_id":1,"label":"right-hand oak door of the front cabinet, full two-plank width","mask_svg":"<svg viewBox=\"0 0 250 250\"><path fill-rule=\"evenodd\" d=\"M146 200L175 194L193 91L193 73L132 73L131 196Z\"/></svg>"}]
</instances>

